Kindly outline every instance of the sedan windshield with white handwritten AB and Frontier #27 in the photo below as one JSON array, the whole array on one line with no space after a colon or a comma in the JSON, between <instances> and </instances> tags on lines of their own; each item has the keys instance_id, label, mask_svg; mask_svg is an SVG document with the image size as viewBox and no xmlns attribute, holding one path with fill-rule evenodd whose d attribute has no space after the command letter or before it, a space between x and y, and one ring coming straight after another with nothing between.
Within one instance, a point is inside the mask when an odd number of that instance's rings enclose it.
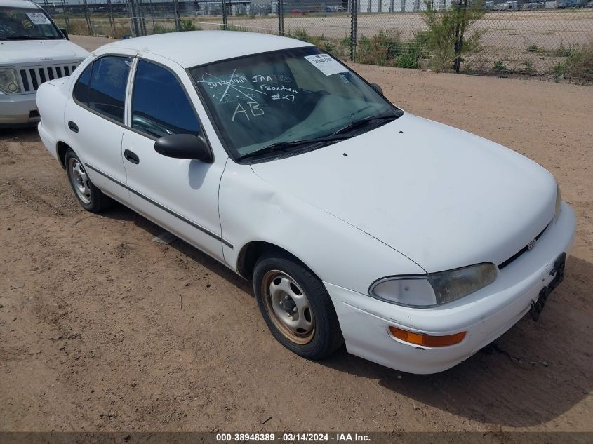
<instances>
[{"instance_id":1,"label":"sedan windshield with white handwritten AB and Frontier #27","mask_svg":"<svg viewBox=\"0 0 593 444\"><path fill-rule=\"evenodd\" d=\"M318 48L248 55L189 71L235 159L276 149L301 152L304 142L342 140L355 129L382 124L381 116L386 122L402 113Z\"/></svg>"}]
</instances>

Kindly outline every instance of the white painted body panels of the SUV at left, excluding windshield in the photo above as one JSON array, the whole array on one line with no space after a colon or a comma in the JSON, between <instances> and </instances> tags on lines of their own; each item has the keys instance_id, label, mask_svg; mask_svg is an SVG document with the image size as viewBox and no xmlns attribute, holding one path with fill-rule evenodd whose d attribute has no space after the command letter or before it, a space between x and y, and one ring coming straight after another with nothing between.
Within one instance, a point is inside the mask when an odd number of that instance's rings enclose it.
<instances>
[{"instance_id":1,"label":"white painted body panels of the SUV at left, excluding windshield","mask_svg":"<svg viewBox=\"0 0 593 444\"><path fill-rule=\"evenodd\" d=\"M41 6L25 0L2 0L0 6L10 8L35 8L43 11ZM32 84L31 76L42 83L39 69L49 79L51 70L53 76L65 76L65 67L70 73L88 56L88 51L72 43L66 38L59 40L0 40L0 69L13 68L18 72L20 91L18 93L3 93L0 90L0 126L11 127L35 124L39 121L35 97L36 90ZM31 71L33 70L33 71ZM22 72L27 79L28 88L22 79Z\"/></svg>"}]
</instances>

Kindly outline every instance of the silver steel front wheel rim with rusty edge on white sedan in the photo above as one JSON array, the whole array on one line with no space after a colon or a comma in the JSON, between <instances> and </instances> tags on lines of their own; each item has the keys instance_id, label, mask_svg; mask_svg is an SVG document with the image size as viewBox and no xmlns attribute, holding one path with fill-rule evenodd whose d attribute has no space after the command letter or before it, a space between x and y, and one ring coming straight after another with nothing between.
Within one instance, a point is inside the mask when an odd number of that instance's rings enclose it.
<instances>
[{"instance_id":1,"label":"silver steel front wheel rim with rusty edge on white sedan","mask_svg":"<svg viewBox=\"0 0 593 444\"><path fill-rule=\"evenodd\" d=\"M268 271L262 278L266 312L276 328L295 344L308 344L315 333L313 308L295 279L284 271Z\"/></svg>"}]
</instances>

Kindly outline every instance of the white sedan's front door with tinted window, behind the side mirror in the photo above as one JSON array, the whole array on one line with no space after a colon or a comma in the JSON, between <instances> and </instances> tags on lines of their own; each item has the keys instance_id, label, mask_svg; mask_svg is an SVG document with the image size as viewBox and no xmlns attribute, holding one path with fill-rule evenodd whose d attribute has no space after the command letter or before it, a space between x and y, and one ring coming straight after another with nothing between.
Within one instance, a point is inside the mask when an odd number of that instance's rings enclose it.
<instances>
[{"instance_id":1,"label":"white sedan's front door with tinted window, behind the side mirror","mask_svg":"<svg viewBox=\"0 0 593 444\"><path fill-rule=\"evenodd\" d=\"M185 71L187 90L197 100ZM139 59L129 102L130 124L122 149L134 210L222 260L218 185L228 156L213 163L172 159L154 151L154 142L171 134L203 135L192 100L171 69Z\"/></svg>"}]
</instances>

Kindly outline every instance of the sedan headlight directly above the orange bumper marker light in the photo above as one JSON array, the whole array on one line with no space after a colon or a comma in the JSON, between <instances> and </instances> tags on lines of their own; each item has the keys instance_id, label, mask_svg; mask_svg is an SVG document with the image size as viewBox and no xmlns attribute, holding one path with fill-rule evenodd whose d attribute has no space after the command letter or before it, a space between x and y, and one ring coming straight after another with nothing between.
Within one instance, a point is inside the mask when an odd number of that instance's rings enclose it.
<instances>
[{"instance_id":1,"label":"sedan headlight directly above the orange bumper marker light","mask_svg":"<svg viewBox=\"0 0 593 444\"><path fill-rule=\"evenodd\" d=\"M434 307L464 297L493 283L495 264L477 264L420 276L394 276L375 281L371 296L406 307Z\"/></svg>"}]
</instances>

